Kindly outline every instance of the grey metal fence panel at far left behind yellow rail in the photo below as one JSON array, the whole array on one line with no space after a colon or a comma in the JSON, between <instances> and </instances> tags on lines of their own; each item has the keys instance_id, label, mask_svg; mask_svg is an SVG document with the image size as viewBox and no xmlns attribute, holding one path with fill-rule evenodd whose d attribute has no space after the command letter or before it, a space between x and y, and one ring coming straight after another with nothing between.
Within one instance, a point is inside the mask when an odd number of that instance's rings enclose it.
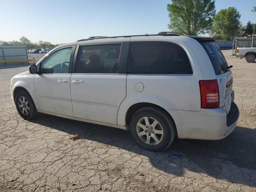
<instances>
[{"instance_id":1,"label":"grey metal fence panel at far left behind yellow rail","mask_svg":"<svg viewBox=\"0 0 256 192\"><path fill-rule=\"evenodd\" d=\"M0 46L0 62L1 60L27 60L28 53L26 50L26 46ZM1 62L2 63L2 62ZM0 63L0 64L1 64ZM8 62L8 64L12 64L14 62ZM20 62L20 63L28 63ZM6 62L4 62L6 65Z\"/></svg>"}]
</instances>

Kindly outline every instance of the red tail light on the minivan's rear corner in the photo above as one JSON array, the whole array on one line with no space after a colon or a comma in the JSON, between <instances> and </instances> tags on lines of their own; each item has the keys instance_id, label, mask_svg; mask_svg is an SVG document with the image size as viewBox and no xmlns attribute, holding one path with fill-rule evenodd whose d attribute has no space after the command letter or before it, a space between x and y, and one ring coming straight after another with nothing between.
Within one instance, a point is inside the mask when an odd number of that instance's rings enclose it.
<instances>
[{"instance_id":1,"label":"red tail light on the minivan's rear corner","mask_svg":"<svg viewBox=\"0 0 256 192\"><path fill-rule=\"evenodd\" d=\"M217 80L200 80L201 108L220 107L220 96Z\"/></svg>"}]
</instances>

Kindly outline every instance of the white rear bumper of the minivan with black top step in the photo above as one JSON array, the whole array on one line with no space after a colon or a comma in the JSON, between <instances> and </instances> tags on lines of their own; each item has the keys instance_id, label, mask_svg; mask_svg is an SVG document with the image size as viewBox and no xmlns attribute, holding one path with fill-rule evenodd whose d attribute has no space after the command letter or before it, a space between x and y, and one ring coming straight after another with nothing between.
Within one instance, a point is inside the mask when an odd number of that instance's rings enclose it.
<instances>
[{"instance_id":1,"label":"white rear bumper of the minivan with black top step","mask_svg":"<svg viewBox=\"0 0 256 192\"><path fill-rule=\"evenodd\" d=\"M176 124L178 138L220 140L236 127L239 109L231 103L226 115L223 108L201 109L200 112L168 110Z\"/></svg>"}]
</instances>

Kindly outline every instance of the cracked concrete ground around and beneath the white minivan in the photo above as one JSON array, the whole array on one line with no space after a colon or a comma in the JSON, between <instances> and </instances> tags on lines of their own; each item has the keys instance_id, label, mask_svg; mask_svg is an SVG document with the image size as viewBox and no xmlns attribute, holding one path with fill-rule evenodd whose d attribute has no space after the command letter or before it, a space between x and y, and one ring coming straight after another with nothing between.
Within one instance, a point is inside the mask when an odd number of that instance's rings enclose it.
<instances>
[{"instance_id":1,"label":"cracked concrete ground around and beneath the white minivan","mask_svg":"<svg viewBox=\"0 0 256 192\"><path fill-rule=\"evenodd\" d=\"M45 114L23 120L9 87L28 65L0 67L0 192L256 191L256 63L223 52L240 108L234 132L218 141L176 139L158 153L138 147L129 131Z\"/></svg>"}]
</instances>

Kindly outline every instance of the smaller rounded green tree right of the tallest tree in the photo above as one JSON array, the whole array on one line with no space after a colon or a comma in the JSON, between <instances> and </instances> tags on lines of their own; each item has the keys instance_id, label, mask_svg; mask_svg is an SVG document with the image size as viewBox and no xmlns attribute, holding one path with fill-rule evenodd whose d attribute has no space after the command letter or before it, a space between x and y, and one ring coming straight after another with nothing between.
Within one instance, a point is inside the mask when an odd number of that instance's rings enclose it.
<instances>
[{"instance_id":1,"label":"smaller rounded green tree right of the tallest tree","mask_svg":"<svg viewBox=\"0 0 256 192\"><path fill-rule=\"evenodd\" d=\"M220 10L213 17L213 28L226 40L231 40L239 30L240 14L234 7Z\"/></svg>"}]
</instances>

